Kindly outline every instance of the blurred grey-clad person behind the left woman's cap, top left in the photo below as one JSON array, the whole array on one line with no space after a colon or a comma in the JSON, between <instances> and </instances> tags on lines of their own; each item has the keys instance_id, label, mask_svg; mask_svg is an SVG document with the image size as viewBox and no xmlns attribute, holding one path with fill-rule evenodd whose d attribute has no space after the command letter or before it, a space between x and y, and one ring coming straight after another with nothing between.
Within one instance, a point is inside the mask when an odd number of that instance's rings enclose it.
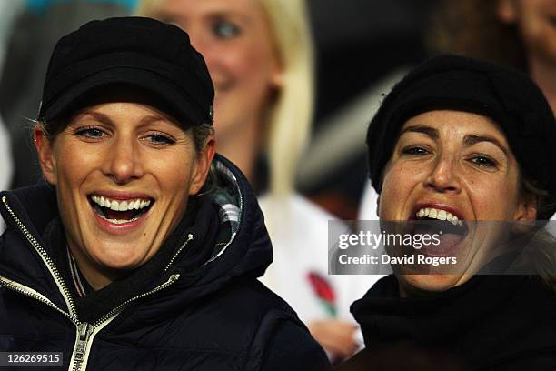
<instances>
[{"instance_id":1,"label":"blurred grey-clad person behind the left woman's cap, top left","mask_svg":"<svg viewBox=\"0 0 556 371\"><path fill-rule=\"evenodd\" d=\"M92 19L129 15L135 0L25 0L10 29L5 29L5 58L0 76L0 115L12 140L12 188L41 177L31 141L48 58L56 41ZM22 5L23 3L23 5ZM17 7L17 6L14 6Z\"/></svg>"}]
</instances>

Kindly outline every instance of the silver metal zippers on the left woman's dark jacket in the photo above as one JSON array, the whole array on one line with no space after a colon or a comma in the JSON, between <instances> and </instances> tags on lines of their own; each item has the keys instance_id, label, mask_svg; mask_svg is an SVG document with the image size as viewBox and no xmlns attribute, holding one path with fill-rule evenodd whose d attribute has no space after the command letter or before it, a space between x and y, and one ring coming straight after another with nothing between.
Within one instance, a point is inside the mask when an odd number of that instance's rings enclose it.
<instances>
[{"instance_id":1,"label":"silver metal zippers on the left woman's dark jacket","mask_svg":"<svg viewBox=\"0 0 556 371\"><path fill-rule=\"evenodd\" d=\"M21 283L18 283L14 280L8 279L8 278L3 277L3 276L0 276L0 283L2 283L2 286L5 286L5 287L7 287L7 288L19 293L19 294L32 297L35 300L45 304L46 306L50 306L50 307L54 308L56 311L62 313L65 316L67 316L70 319L70 321L72 321L74 323L74 325L77 327L77 335L76 335L76 338L75 338L74 351L72 353L72 358L71 358L70 367L69 367L72 371L80 371L81 369L86 368L87 360L88 360L89 352L91 350L91 344L93 342L94 336L100 330L102 330L104 328L104 326L106 326L110 322L112 322L112 320L122 310L124 310L125 306L128 306L129 304L133 303L137 299L143 298L145 296L150 296L150 295L152 295L152 294L154 294L154 293L156 293L156 292L158 292L158 291L160 291L160 290L162 290L162 289L164 289L168 286L173 285L174 282L177 281L178 278L180 277L179 274L171 275L168 278L168 280L166 282L164 282L164 284L156 286L156 287L154 287L154 289L152 289L152 290L150 290L150 291L148 291L144 294L134 296L134 297L124 301L124 303L122 303L119 306L116 306L113 310L108 312L106 315L102 316L98 321L96 321L94 323L94 325L88 324L86 322L80 322L79 318L77 317L77 311L75 309L74 301L72 299L72 296L70 295L67 286L65 286L65 282L62 279L62 276L60 275L60 272L58 272L58 269L56 268L52 259L50 258L50 256L48 256L48 254L46 254L45 249L43 248L43 246L41 246L38 243L38 241L36 241L33 234L31 234L31 232L29 232L29 230L25 227L23 222L15 215L14 211L12 210L12 208L7 203L7 197L6 196L2 197L2 202L4 203L6 209L8 210L8 212L10 214L10 216L12 216L12 218L14 219L15 223L17 224L17 226L19 227L21 232L24 234L24 236L27 239L27 241L29 242L29 244L31 244L31 246L33 246L35 248L35 251L43 259L43 262L45 263L45 266L47 266L48 270L50 271L50 274L53 276L53 278L55 280L56 286L58 286L58 290L60 290L60 292L62 293L62 296L64 297L65 304L69 309L69 313L66 312L65 310L61 309L60 307L56 306L50 299L48 299L46 296L40 294L38 291L34 290L31 287L25 286ZM188 236L187 241L185 241L184 245L180 247L180 249L174 255L171 263L166 267L166 269L170 267L170 265L174 262L175 257L184 249L185 246L187 246L188 242L191 241L192 239L193 239L193 235L190 234Z\"/></svg>"}]
</instances>

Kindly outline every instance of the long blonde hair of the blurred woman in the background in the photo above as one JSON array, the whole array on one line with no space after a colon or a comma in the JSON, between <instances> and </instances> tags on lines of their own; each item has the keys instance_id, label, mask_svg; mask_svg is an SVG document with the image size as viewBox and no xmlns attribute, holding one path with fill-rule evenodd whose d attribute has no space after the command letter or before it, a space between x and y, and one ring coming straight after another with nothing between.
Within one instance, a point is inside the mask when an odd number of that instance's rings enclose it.
<instances>
[{"instance_id":1,"label":"long blonde hair of the blurred woman in the background","mask_svg":"<svg viewBox=\"0 0 556 371\"><path fill-rule=\"evenodd\" d=\"M154 15L164 0L142 0L139 15ZM298 161L313 119L313 40L303 0L258 0L283 65L282 88L269 107L266 153L272 196L293 191Z\"/></svg>"}]
</instances>

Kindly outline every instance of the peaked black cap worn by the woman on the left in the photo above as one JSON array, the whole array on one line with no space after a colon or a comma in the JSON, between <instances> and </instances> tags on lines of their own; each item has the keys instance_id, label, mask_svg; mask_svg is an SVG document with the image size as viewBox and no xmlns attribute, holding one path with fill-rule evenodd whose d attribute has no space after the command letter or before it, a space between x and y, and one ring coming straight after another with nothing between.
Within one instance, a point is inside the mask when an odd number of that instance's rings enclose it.
<instances>
[{"instance_id":1,"label":"peaked black cap worn by the woman on the left","mask_svg":"<svg viewBox=\"0 0 556 371\"><path fill-rule=\"evenodd\" d=\"M48 122L88 93L114 85L152 94L183 125L213 122L214 89L203 56L180 28L142 17L92 21L62 37L48 65L38 118Z\"/></svg>"}]
</instances>

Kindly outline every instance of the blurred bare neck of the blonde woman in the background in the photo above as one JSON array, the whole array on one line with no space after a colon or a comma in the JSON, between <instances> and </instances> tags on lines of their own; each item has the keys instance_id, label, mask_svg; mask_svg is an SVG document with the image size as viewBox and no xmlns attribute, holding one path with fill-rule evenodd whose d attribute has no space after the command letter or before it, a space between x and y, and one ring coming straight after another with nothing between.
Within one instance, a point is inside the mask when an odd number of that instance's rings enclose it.
<instances>
[{"instance_id":1,"label":"blurred bare neck of the blonde woman in the background","mask_svg":"<svg viewBox=\"0 0 556 371\"><path fill-rule=\"evenodd\" d=\"M261 125L257 120L250 121L243 123L241 130L229 131L223 135L224 137L217 137L216 143L218 153L239 167L247 180L253 184L254 165L261 142Z\"/></svg>"}]
</instances>

